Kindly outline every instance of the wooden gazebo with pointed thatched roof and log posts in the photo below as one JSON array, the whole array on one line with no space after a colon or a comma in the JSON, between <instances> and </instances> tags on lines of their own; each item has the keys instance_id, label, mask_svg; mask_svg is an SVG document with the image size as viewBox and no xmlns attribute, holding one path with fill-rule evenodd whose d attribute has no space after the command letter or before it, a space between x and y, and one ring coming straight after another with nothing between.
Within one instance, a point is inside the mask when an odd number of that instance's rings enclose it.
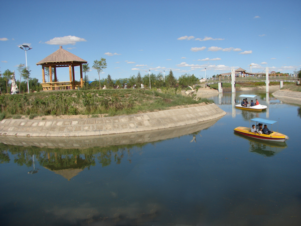
<instances>
[{"instance_id":1,"label":"wooden gazebo with pointed thatched roof and log posts","mask_svg":"<svg viewBox=\"0 0 301 226\"><path fill-rule=\"evenodd\" d=\"M53 89L74 89L77 87L83 87L83 68L82 64L87 63L87 61L75 56L74 54L64 50L62 46L50 54L48 57L44 58L37 65L42 65L42 76L43 90L53 90ZM74 67L80 66L80 82L75 82L75 72ZM45 82L45 67L49 67L49 82ZM57 67L69 67L70 81L57 81ZM54 68L54 81L52 80L52 68Z\"/></svg>"}]
</instances>

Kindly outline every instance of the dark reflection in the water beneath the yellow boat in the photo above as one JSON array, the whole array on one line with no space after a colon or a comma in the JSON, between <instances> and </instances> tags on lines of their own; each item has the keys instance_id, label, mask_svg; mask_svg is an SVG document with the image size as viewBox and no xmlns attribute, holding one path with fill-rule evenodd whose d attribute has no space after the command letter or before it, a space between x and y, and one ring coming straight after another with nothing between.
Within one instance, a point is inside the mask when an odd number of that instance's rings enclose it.
<instances>
[{"instance_id":1,"label":"dark reflection in the water beneath the yellow boat","mask_svg":"<svg viewBox=\"0 0 301 226\"><path fill-rule=\"evenodd\" d=\"M287 148L285 142L259 141L254 138L246 138L245 136L237 133L234 134L249 141L250 152L263 155L264 157L272 157Z\"/></svg>"}]
</instances>

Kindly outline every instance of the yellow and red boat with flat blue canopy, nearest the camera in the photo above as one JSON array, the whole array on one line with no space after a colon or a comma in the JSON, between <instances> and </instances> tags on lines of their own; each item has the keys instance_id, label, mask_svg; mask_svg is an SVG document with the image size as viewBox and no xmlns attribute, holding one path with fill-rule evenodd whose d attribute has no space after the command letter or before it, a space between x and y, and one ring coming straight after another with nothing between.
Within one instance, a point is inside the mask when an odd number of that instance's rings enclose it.
<instances>
[{"instance_id":1,"label":"yellow and red boat with flat blue canopy, nearest the camera","mask_svg":"<svg viewBox=\"0 0 301 226\"><path fill-rule=\"evenodd\" d=\"M262 123L262 124L269 124L269 125L273 125L275 123L278 123L277 121L273 121L273 120L266 120L266 119L260 119L260 118L255 118L252 119L250 121L254 121L257 123ZM251 124L251 123L250 123ZM284 134L280 134L278 132L272 131L271 130L271 134L258 134L258 133L253 133L251 132L251 127L236 127L234 129L234 132L247 136L247 137L252 137L255 139L259 139L259 140L264 140L264 141L277 141L277 142L285 142L288 139L288 136L284 135Z\"/></svg>"}]
</instances>

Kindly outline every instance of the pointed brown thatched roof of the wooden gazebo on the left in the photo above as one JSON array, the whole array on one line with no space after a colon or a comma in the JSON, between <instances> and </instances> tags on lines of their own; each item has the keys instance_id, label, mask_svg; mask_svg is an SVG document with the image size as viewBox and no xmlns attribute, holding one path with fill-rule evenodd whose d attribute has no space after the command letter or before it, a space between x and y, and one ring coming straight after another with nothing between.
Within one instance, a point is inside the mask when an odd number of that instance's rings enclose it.
<instances>
[{"instance_id":1,"label":"pointed brown thatched roof of the wooden gazebo on the left","mask_svg":"<svg viewBox=\"0 0 301 226\"><path fill-rule=\"evenodd\" d=\"M54 53L50 54L48 57L44 58L43 60L39 61L37 65L47 64L47 63L65 63L65 62L78 62L78 63L87 63L87 61L75 56L74 54L64 50L62 46L55 51Z\"/></svg>"}]
</instances>

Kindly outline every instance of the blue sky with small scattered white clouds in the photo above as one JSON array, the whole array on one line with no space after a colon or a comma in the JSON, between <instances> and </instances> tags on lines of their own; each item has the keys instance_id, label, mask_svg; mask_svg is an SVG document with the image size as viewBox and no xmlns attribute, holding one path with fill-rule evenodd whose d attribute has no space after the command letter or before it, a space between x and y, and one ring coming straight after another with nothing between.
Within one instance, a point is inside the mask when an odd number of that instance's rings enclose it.
<instances>
[{"instance_id":1,"label":"blue sky with small scattered white clouds","mask_svg":"<svg viewBox=\"0 0 301 226\"><path fill-rule=\"evenodd\" d=\"M301 67L301 1L2 1L0 70L36 63L59 49L88 61L106 59L100 77L173 70L197 77L230 72L293 73ZM79 80L79 67L75 68ZM67 68L57 70L69 80ZM98 79L96 70L89 79Z\"/></svg>"}]
</instances>

